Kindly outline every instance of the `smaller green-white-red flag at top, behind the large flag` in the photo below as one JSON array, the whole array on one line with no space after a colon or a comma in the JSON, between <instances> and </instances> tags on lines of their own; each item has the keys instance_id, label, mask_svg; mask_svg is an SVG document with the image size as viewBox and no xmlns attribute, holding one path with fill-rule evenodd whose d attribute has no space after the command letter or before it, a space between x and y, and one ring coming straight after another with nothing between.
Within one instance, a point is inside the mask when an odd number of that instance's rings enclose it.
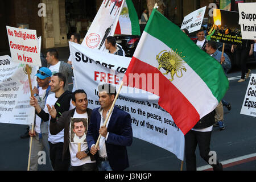
<instances>
[{"instance_id":1,"label":"smaller green-white-red flag at top, behind the large flag","mask_svg":"<svg viewBox=\"0 0 256 182\"><path fill-rule=\"evenodd\" d=\"M139 19L131 0L126 0L118 19L115 34L141 35Z\"/></svg>"}]
</instances>

